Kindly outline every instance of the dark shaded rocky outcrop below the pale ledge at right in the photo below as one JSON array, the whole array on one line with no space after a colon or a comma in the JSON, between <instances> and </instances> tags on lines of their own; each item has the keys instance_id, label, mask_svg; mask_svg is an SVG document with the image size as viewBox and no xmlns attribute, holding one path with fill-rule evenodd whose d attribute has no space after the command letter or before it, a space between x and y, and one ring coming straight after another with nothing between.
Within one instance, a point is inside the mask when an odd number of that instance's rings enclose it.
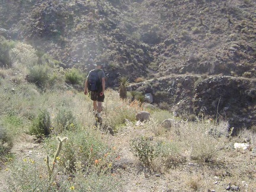
<instances>
[{"instance_id":1,"label":"dark shaded rocky outcrop below the pale ledge at right","mask_svg":"<svg viewBox=\"0 0 256 192\"><path fill-rule=\"evenodd\" d=\"M152 104L183 119L211 118L226 120L233 133L256 123L256 81L232 76L175 75L131 85L130 89L151 89Z\"/></svg>"}]
</instances>

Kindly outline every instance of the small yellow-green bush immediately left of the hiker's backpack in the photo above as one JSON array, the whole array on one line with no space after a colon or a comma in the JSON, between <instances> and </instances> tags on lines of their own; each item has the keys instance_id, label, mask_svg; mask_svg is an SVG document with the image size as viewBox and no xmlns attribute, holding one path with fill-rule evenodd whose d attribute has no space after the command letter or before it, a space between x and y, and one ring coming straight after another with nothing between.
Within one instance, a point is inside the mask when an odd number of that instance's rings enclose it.
<instances>
[{"instance_id":1,"label":"small yellow-green bush immediately left of the hiker's backpack","mask_svg":"<svg viewBox=\"0 0 256 192\"><path fill-rule=\"evenodd\" d=\"M83 76L81 71L76 68L66 69L65 82L72 85L81 85Z\"/></svg>"}]
</instances>

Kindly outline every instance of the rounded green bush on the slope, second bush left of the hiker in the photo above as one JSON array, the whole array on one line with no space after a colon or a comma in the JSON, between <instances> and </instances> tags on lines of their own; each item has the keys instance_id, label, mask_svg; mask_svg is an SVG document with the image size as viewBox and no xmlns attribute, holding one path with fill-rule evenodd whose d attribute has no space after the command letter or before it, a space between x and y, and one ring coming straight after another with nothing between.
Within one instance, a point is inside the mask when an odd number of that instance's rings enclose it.
<instances>
[{"instance_id":1,"label":"rounded green bush on the slope, second bush left of the hiker","mask_svg":"<svg viewBox=\"0 0 256 192\"><path fill-rule=\"evenodd\" d=\"M27 81L33 82L38 87L43 88L49 80L50 68L47 65L34 65L28 68Z\"/></svg>"}]
</instances>

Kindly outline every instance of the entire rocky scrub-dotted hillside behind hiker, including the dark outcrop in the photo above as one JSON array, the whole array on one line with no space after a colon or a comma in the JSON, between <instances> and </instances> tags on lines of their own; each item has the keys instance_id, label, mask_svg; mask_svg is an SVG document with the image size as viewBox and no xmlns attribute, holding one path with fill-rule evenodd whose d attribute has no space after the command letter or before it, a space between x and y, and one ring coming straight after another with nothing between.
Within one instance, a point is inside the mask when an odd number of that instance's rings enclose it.
<instances>
[{"instance_id":1,"label":"entire rocky scrub-dotted hillside behind hiker, including the dark outcrop","mask_svg":"<svg viewBox=\"0 0 256 192\"><path fill-rule=\"evenodd\" d=\"M252 126L255 8L252 0L1 0L0 34L64 68L86 72L100 59L108 87L122 75L144 79L132 88L177 114Z\"/></svg>"}]
</instances>

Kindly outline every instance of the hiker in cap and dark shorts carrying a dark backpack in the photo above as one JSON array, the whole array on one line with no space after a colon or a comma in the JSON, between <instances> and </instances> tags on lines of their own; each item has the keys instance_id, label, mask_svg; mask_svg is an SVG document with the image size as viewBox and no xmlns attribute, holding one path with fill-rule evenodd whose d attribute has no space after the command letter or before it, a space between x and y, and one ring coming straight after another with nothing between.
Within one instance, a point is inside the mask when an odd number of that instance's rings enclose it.
<instances>
[{"instance_id":1,"label":"hiker in cap and dark shorts carrying a dark backpack","mask_svg":"<svg viewBox=\"0 0 256 192\"><path fill-rule=\"evenodd\" d=\"M104 102L105 98L105 73L101 68L103 68L104 63L96 62L94 66L95 69L89 71L85 81L84 94L87 95L89 92L89 97L93 101L95 118L98 123L102 123L101 111L102 102Z\"/></svg>"}]
</instances>

